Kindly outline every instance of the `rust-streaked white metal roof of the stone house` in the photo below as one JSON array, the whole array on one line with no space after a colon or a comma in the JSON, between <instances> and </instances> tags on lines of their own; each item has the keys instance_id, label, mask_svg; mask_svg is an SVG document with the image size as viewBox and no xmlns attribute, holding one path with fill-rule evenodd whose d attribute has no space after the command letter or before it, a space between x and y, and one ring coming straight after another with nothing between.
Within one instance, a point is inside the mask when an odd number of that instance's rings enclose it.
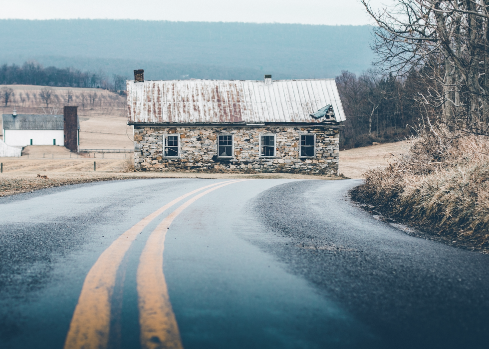
<instances>
[{"instance_id":1,"label":"rust-streaked white metal roof of the stone house","mask_svg":"<svg viewBox=\"0 0 489 349\"><path fill-rule=\"evenodd\" d=\"M130 123L321 123L328 104L346 120L334 79L128 80L127 103Z\"/></svg>"}]
</instances>

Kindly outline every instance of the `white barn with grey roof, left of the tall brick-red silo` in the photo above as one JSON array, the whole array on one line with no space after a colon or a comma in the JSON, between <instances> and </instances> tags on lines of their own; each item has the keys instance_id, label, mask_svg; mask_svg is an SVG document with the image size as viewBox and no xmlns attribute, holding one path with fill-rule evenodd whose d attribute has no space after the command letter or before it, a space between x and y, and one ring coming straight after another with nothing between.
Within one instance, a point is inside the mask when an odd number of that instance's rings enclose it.
<instances>
[{"instance_id":1,"label":"white barn with grey roof, left of the tall brick-red silo","mask_svg":"<svg viewBox=\"0 0 489 349\"><path fill-rule=\"evenodd\" d=\"M64 146L63 115L3 114L3 142L13 146Z\"/></svg>"}]
</instances>

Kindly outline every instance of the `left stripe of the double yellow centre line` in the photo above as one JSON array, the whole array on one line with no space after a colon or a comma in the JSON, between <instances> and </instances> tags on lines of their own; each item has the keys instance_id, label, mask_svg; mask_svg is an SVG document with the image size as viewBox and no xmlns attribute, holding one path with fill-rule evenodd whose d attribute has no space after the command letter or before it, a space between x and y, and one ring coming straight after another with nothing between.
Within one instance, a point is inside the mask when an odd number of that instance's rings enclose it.
<instances>
[{"instance_id":1,"label":"left stripe of the double yellow centre line","mask_svg":"<svg viewBox=\"0 0 489 349\"><path fill-rule=\"evenodd\" d=\"M117 238L100 255L85 278L78 304L71 319L64 349L107 348L110 330L110 302L117 270L131 243L153 219L190 195L209 187L234 181L214 183L182 195L143 218Z\"/></svg>"}]
</instances>

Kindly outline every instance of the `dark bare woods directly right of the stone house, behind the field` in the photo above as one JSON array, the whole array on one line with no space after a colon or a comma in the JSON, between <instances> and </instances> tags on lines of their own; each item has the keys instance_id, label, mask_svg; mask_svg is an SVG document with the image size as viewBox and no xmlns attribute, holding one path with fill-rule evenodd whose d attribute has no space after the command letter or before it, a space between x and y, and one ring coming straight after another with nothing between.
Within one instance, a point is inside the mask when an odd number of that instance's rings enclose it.
<instances>
[{"instance_id":1,"label":"dark bare woods directly right of the stone house, behind the field","mask_svg":"<svg viewBox=\"0 0 489 349\"><path fill-rule=\"evenodd\" d=\"M403 140L419 124L419 104L413 98L422 88L418 75L400 79L343 71L335 80L346 113L341 149Z\"/></svg>"}]
</instances>

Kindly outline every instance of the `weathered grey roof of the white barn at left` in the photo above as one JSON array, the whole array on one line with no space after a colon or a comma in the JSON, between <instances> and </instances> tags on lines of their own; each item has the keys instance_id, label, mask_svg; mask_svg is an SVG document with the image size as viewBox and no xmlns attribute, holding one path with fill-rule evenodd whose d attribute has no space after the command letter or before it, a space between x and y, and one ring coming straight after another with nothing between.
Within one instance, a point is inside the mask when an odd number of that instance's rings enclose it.
<instances>
[{"instance_id":1,"label":"weathered grey roof of the white barn at left","mask_svg":"<svg viewBox=\"0 0 489 349\"><path fill-rule=\"evenodd\" d=\"M63 130L64 116L45 114L12 114L2 115L4 130ZM78 121L78 129L80 122Z\"/></svg>"}]
</instances>

